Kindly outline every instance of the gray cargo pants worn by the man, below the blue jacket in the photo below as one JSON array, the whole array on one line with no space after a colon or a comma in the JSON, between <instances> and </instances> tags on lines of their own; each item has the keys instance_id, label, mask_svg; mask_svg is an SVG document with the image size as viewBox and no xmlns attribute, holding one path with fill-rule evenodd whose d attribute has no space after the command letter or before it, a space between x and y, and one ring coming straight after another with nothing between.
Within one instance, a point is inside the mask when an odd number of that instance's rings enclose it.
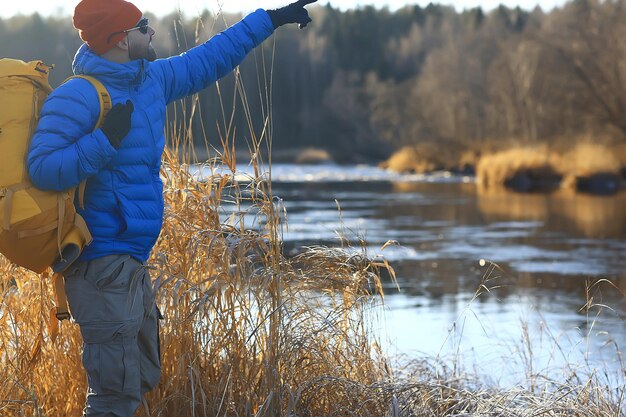
<instances>
[{"instance_id":1,"label":"gray cargo pants worn by the man, below the blue jacket","mask_svg":"<svg viewBox=\"0 0 626 417\"><path fill-rule=\"evenodd\" d=\"M83 336L85 416L131 417L161 373L159 311L147 269L128 255L68 268L65 292Z\"/></svg>"}]
</instances>

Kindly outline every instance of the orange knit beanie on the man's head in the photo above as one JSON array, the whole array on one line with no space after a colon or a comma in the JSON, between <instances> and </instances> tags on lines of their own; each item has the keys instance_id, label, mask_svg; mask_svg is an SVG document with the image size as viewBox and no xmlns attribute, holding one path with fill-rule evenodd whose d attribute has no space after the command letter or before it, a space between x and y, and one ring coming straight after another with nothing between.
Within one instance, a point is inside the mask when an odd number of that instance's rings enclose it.
<instances>
[{"instance_id":1,"label":"orange knit beanie on the man's head","mask_svg":"<svg viewBox=\"0 0 626 417\"><path fill-rule=\"evenodd\" d=\"M80 38L96 54L101 55L121 41L125 34L112 33L134 27L141 11L124 0L82 0L74 9L74 27Z\"/></svg>"}]
</instances>

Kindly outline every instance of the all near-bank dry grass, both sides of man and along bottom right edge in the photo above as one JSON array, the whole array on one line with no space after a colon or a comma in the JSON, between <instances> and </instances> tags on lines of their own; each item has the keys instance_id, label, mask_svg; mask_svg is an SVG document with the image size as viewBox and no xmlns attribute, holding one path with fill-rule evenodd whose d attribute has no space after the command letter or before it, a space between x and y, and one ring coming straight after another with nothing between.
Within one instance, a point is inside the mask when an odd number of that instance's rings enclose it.
<instances>
[{"instance_id":1,"label":"all near-bank dry grass, both sides of man and along bottom right edge","mask_svg":"<svg viewBox=\"0 0 626 417\"><path fill-rule=\"evenodd\" d=\"M383 258L371 259L365 242L349 236L339 248L286 257L271 183L230 174L199 182L173 155L163 170L164 229L149 261L165 315L163 374L138 416L623 415L619 375L569 364L562 379L550 377L533 368L530 337L519 341L526 375L512 388L464 369L462 357L395 366L373 326L384 304L381 274L395 280ZM228 152L221 162L235 172ZM474 299L498 285L498 274L488 266ZM6 261L0 277L0 414L79 415L86 385L78 327L63 323L52 342L50 282ZM589 300L592 322L604 306Z\"/></svg>"}]
</instances>

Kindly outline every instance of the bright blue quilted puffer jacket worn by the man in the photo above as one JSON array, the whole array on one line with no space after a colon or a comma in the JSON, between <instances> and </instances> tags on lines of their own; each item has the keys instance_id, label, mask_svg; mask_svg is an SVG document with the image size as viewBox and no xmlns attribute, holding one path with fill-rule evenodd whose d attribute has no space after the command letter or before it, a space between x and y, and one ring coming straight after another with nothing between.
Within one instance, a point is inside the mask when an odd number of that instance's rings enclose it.
<instances>
[{"instance_id":1,"label":"bright blue quilted puffer jacket worn by the man","mask_svg":"<svg viewBox=\"0 0 626 417\"><path fill-rule=\"evenodd\" d=\"M112 254L148 259L162 226L165 109L174 100L206 88L232 71L274 31L264 10L188 52L154 62L117 64L83 45L75 74L92 75L107 88L113 104L131 100L131 130L118 150L102 130L92 132L100 107L95 89L72 79L46 100L28 153L32 182L65 190L87 180L85 218L93 243L81 260Z\"/></svg>"}]
</instances>

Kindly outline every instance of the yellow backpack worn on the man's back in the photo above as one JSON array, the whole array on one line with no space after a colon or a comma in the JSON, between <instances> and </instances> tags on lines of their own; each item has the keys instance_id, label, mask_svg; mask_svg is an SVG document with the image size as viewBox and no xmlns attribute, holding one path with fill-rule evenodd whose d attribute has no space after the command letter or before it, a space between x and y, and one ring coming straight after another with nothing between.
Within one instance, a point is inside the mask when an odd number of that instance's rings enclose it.
<instances>
[{"instance_id":1,"label":"yellow backpack worn on the man's back","mask_svg":"<svg viewBox=\"0 0 626 417\"><path fill-rule=\"evenodd\" d=\"M0 253L11 262L42 273L61 272L91 243L83 218L76 213L76 189L43 191L30 182L26 159L39 112L52 87L52 67L41 61L0 59ZM106 88L87 79L100 99L100 126L111 108ZM79 189L82 205L84 183Z\"/></svg>"}]
</instances>

